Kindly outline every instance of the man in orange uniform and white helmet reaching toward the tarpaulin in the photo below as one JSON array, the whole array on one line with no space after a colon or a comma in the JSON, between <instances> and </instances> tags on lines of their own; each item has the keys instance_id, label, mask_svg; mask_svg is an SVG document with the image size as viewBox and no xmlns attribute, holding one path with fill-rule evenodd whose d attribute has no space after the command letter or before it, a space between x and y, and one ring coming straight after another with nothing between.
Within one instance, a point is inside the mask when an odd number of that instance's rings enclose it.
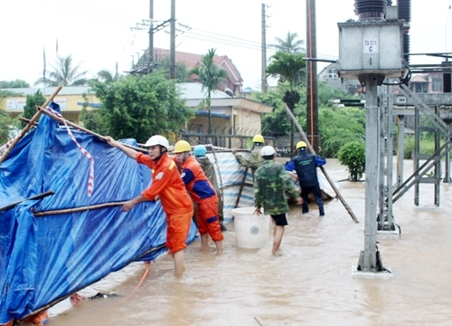
<instances>
[{"instance_id":1,"label":"man in orange uniform and white helmet reaching toward the tarpaulin","mask_svg":"<svg viewBox=\"0 0 452 326\"><path fill-rule=\"evenodd\" d=\"M168 157L169 143L165 137L152 136L146 141L149 155L129 149L111 137L108 144L121 149L129 158L137 159L137 163L145 164L152 170L152 184L139 196L128 200L123 211L146 200L155 200L158 196L166 214L166 247L174 259L174 271L177 279L182 279L185 270L184 248L190 231L193 216L193 203L188 196L184 182L176 164Z\"/></svg>"}]
</instances>

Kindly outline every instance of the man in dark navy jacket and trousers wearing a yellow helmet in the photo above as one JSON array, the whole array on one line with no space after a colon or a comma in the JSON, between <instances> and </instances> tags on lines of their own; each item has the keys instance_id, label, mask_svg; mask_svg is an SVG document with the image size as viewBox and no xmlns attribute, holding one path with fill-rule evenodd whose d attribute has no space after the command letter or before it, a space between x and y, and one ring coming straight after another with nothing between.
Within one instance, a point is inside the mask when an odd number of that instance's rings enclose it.
<instances>
[{"instance_id":1,"label":"man in dark navy jacket and trousers wearing a yellow helmet","mask_svg":"<svg viewBox=\"0 0 452 326\"><path fill-rule=\"evenodd\" d=\"M309 193L312 193L315 197L315 203L317 203L320 216L325 216L324 198L322 198L322 191L320 190L317 179L317 167L325 165L326 160L325 158L320 158L314 154L308 154L306 148L306 142L298 141L298 156L292 158L295 170L297 171L298 182L301 187L303 213L307 213L309 211L309 207L307 206L307 196Z\"/></svg>"}]
</instances>

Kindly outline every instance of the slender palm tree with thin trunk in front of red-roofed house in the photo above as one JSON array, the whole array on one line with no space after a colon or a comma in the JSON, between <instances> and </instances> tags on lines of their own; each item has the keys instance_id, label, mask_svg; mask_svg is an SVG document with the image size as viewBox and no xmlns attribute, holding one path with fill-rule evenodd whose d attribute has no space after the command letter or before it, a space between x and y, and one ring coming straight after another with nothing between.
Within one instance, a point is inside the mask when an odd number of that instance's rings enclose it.
<instances>
[{"instance_id":1,"label":"slender palm tree with thin trunk in front of red-roofed house","mask_svg":"<svg viewBox=\"0 0 452 326\"><path fill-rule=\"evenodd\" d=\"M205 99L207 109L209 110L209 129L207 132L212 133L212 111L211 111L211 93L216 91L218 83L227 77L227 72L213 62L215 49L210 49L207 54L202 55L201 65L194 67L189 73L198 75L202 83L202 91L206 91Z\"/></svg>"}]
</instances>

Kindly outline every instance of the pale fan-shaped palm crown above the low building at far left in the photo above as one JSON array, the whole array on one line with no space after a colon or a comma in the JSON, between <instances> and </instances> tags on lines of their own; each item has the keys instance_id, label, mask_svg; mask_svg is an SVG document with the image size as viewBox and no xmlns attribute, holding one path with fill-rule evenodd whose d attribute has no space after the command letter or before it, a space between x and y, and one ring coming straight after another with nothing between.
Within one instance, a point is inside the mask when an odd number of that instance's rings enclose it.
<instances>
[{"instance_id":1,"label":"pale fan-shaped palm crown above the low building at far left","mask_svg":"<svg viewBox=\"0 0 452 326\"><path fill-rule=\"evenodd\" d=\"M34 85L43 83L46 86L80 86L86 84L86 71L80 72L80 63L73 66L71 54L63 58L57 55L56 67L51 64L53 72L49 73L49 78L40 78Z\"/></svg>"}]
</instances>

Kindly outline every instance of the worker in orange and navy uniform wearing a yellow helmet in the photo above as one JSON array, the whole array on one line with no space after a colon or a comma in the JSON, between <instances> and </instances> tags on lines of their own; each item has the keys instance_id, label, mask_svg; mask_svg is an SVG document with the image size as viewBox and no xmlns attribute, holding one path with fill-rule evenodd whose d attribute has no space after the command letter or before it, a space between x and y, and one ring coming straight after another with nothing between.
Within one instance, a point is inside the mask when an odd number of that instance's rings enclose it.
<instances>
[{"instance_id":1,"label":"worker in orange and navy uniform wearing a yellow helmet","mask_svg":"<svg viewBox=\"0 0 452 326\"><path fill-rule=\"evenodd\" d=\"M201 235L201 249L208 249L208 235L217 247L217 254L223 251L221 225L218 218L218 196L211 181L205 176L199 162L190 153L192 147L185 140L174 145L175 160L182 166L182 179L193 202L198 207L198 230Z\"/></svg>"}]
</instances>

